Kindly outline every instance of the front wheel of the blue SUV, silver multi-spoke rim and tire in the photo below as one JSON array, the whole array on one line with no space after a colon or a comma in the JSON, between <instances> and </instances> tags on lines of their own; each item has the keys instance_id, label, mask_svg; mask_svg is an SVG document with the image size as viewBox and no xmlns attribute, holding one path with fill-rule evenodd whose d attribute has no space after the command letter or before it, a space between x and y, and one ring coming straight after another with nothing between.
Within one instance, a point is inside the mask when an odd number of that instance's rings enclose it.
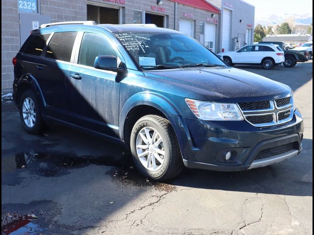
<instances>
[{"instance_id":1,"label":"front wheel of the blue SUV, silver multi-spoke rim and tire","mask_svg":"<svg viewBox=\"0 0 314 235\"><path fill-rule=\"evenodd\" d=\"M133 162L147 178L164 181L183 169L179 144L170 122L157 115L140 118L130 140Z\"/></svg>"}]
</instances>

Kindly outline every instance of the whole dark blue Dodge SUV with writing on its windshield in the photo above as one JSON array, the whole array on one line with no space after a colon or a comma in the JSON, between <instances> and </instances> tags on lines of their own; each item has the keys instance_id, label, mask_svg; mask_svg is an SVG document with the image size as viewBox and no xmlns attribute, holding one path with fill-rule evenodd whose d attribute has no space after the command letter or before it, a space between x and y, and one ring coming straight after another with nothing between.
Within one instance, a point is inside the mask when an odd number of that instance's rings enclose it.
<instances>
[{"instance_id":1,"label":"whole dark blue Dodge SUV with writing on its windshield","mask_svg":"<svg viewBox=\"0 0 314 235\"><path fill-rule=\"evenodd\" d=\"M33 30L14 64L22 125L49 120L122 141L150 179L238 171L300 153L291 89L228 67L180 32L93 22Z\"/></svg>"}]
</instances>

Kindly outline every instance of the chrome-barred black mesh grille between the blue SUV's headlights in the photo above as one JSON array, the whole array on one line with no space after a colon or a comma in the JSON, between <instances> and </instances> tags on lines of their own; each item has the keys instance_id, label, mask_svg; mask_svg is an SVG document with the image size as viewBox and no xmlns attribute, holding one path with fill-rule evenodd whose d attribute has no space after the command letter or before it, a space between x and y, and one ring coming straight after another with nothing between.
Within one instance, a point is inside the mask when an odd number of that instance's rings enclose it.
<instances>
[{"instance_id":1,"label":"chrome-barred black mesh grille between the blue SUV's headlights","mask_svg":"<svg viewBox=\"0 0 314 235\"><path fill-rule=\"evenodd\" d=\"M293 118L293 99L291 96L258 102L238 103L243 117L257 127L278 125Z\"/></svg>"}]
</instances>

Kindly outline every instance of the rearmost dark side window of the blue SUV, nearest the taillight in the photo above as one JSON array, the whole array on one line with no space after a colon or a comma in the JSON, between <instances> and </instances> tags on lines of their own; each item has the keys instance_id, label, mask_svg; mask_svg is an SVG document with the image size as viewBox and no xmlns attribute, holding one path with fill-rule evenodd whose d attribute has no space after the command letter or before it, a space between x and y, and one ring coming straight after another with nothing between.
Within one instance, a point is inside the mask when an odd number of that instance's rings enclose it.
<instances>
[{"instance_id":1,"label":"rearmost dark side window of the blue SUV, nearest the taillight","mask_svg":"<svg viewBox=\"0 0 314 235\"><path fill-rule=\"evenodd\" d=\"M39 56L43 51L50 35L50 33L44 35L30 35L20 51L26 54Z\"/></svg>"}]
</instances>

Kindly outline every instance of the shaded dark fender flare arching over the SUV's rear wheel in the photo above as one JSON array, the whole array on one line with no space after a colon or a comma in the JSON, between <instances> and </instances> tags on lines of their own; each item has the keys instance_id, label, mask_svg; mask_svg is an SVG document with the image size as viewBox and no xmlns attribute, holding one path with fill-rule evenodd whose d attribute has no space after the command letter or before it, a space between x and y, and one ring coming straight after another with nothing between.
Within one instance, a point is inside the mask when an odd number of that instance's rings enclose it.
<instances>
[{"instance_id":1,"label":"shaded dark fender flare arching over the SUV's rear wheel","mask_svg":"<svg viewBox=\"0 0 314 235\"><path fill-rule=\"evenodd\" d=\"M44 97L44 94L42 92L42 90L40 89L40 86L38 84L38 81L36 80L36 78L29 74L29 73L26 73L26 74L23 74L18 82L16 83L16 91L18 92L17 93L17 103L18 103L18 100L20 97L18 97L18 94L21 94L20 92L23 92L23 91L20 91L24 85L27 85L28 87L31 87L32 90L38 95L39 97L39 100L42 104L43 107L46 107L47 106L47 103L46 103L46 100L45 100L45 97Z\"/></svg>"}]
</instances>

